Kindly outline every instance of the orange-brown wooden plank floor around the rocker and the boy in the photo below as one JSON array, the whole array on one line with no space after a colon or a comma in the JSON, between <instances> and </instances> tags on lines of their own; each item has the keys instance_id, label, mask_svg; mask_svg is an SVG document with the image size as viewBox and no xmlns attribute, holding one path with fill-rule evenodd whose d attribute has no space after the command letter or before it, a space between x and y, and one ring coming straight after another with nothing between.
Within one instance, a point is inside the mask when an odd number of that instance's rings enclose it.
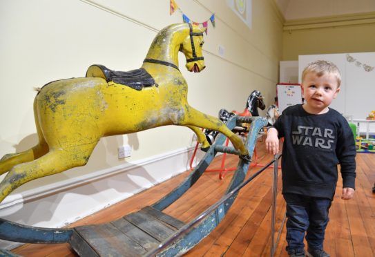
<instances>
[{"instance_id":1,"label":"orange-brown wooden plank floor around the rocker and the boy","mask_svg":"<svg viewBox=\"0 0 375 257\"><path fill-rule=\"evenodd\" d=\"M258 163L265 164L271 160L271 155L265 155L263 144L258 144L257 150L258 156L262 156ZM375 182L375 154L360 153L356 160L358 179L354 200L340 199L342 182L339 180L330 210L325 249L331 256L375 256L375 194L372 193ZM210 168L220 166L220 162L221 157L216 158ZM235 166L237 162L238 158L230 157L227 158L226 164ZM260 168L252 167L247 177L258 169ZM244 187L220 225L185 256L270 256L272 171L273 169L267 169ZM171 191L188 173L158 184L75 222L70 227L116 220L126 213L148 206ZM189 222L221 198L230 179L231 172L227 173L223 180L218 178L217 172L206 172L191 190L164 212ZM280 192L280 172L278 182ZM284 215L285 202L278 193L277 230ZM275 256L287 256L285 246L284 226ZM23 245L12 252L21 256L76 256L68 244Z\"/></svg>"}]
</instances>

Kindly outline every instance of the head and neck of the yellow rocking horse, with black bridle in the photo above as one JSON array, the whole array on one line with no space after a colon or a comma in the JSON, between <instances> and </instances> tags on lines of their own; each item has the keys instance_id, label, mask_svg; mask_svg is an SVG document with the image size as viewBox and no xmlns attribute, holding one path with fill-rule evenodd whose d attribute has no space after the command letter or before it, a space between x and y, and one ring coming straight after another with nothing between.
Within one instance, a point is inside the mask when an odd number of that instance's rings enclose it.
<instances>
[{"instance_id":1,"label":"head and neck of the yellow rocking horse, with black bridle","mask_svg":"<svg viewBox=\"0 0 375 257\"><path fill-rule=\"evenodd\" d=\"M178 70L178 51L180 51L186 57L187 70L199 73L206 67L202 56L205 30L191 23L167 26L157 33L144 62L164 64Z\"/></svg>"}]
</instances>

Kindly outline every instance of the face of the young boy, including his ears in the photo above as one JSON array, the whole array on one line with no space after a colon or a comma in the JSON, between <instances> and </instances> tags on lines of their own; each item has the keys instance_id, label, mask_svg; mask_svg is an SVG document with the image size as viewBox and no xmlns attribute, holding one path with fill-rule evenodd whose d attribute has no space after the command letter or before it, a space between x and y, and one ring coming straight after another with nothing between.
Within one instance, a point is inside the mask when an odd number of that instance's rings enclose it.
<instances>
[{"instance_id":1,"label":"face of the young boy, including his ears","mask_svg":"<svg viewBox=\"0 0 375 257\"><path fill-rule=\"evenodd\" d=\"M303 108L307 113L327 113L329 104L339 91L336 76L325 74L318 77L316 73L307 73L302 82L302 92L306 99Z\"/></svg>"}]
</instances>

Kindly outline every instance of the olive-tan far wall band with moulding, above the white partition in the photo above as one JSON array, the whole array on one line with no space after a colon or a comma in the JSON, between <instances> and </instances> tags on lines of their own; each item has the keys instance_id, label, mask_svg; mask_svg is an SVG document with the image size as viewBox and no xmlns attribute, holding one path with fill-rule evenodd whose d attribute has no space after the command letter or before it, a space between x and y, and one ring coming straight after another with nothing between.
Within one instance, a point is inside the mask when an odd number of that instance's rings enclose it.
<instances>
[{"instance_id":1,"label":"olive-tan far wall band with moulding, above the white partition","mask_svg":"<svg viewBox=\"0 0 375 257\"><path fill-rule=\"evenodd\" d=\"M282 34L282 59L298 55L375 51L375 12L356 16L287 21Z\"/></svg>"}]
</instances>

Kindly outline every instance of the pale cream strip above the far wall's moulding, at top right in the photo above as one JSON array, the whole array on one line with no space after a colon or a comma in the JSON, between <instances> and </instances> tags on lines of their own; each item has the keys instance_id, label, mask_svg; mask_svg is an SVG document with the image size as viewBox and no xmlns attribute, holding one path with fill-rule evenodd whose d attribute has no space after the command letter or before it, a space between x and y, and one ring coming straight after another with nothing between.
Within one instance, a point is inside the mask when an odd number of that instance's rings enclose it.
<instances>
[{"instance_id":1,"label":"pale cream strip above the far wall's moulding, at top right","mask_svg":"<svg viewBox=\"0 0 375 257\"><path fill-rule=\"evenodd\" d=\"M287 21L375 12L375 0L274 0Z\"/></svg>"}]
</instances>

